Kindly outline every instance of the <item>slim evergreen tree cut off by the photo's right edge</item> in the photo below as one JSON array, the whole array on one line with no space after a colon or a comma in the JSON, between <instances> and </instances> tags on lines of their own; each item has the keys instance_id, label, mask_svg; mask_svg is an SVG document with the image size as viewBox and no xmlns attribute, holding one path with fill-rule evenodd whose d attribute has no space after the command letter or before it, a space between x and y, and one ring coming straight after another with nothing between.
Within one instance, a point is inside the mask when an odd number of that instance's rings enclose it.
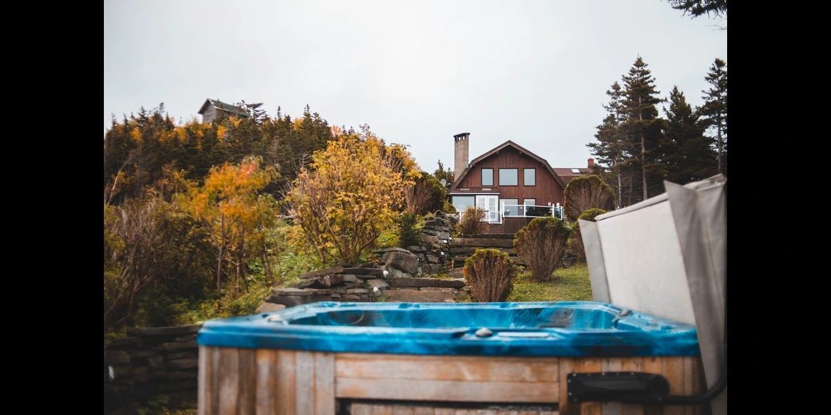
<instances>
[{"instance_id":1,"label":"slim evergreen tree cut off by the photo's right edge","mask_svg":"<svg viewBox=\"0 0 831 415\"><path fill-rule=\"evenodd\" d=\"M715 133L718 149L718 171L727 174L727 63L715 58L710 71L704 77L710 88L702 90L704 105L701 105L701 119L711 134Z\"/></svg>"}]
</instances>

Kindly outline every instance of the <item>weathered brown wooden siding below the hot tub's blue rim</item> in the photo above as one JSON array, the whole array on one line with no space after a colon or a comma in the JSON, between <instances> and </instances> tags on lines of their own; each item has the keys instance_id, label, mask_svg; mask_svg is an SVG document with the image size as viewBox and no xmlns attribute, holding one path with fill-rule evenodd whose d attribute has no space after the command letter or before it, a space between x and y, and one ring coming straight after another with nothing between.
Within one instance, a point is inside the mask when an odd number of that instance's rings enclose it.
<instances>
[{"instance_id":1,"label":"weathered brown wooden siding below the hot tub's blue rim","mask_svg":"<svg viewBox=\"0 0 831 415\"><path fill-rule=\"evenodd\" d=\"M621 403L569 405L566 375L628 371L662 374L674 395L701 391L701 358L535 358L354 354L199 347L199 414L326 415L336 399L435 401L435 408L390 403L353 405L352 413L509 413L442 408L441 403L558 403L565 414L693 415L701 406Z\"/></svg>"}]
</instances>

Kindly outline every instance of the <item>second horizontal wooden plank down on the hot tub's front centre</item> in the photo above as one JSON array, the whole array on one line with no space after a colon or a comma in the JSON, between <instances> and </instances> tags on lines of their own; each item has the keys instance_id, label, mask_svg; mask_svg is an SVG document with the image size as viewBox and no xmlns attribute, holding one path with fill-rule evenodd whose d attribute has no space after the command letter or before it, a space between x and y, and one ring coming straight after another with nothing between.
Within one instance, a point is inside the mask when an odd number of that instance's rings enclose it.
<instances>
[{"instance_id":1,"label":"second horizontal wooden plank down on the hot tub's front centre","mask_svg":"<svg viewBox=\"0 0 831 415\"><path fill-rule=\"evenodd\" d=\"M556 403L558 383L337 378L337 398Z\"/></svg>"}]
</instances>

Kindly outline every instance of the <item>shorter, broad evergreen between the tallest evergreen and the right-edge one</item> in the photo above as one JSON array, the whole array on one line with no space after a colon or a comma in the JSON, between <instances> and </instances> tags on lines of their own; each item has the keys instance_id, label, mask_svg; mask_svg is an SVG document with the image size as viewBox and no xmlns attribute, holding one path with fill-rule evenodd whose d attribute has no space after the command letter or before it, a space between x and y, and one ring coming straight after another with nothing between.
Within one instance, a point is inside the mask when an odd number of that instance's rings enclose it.
<instances>
[{"instance_id":1,"label":"shorter, broad evergreen between the tallest evergreen and the right-edge one","mask_svg":"<svg viewBox=\"0 0 831 415\"><path fill-rule=\"evenodd\" d=\"M686 184L715 174L712 139L704 136L699 115L686 103L684 93L677 86L670 92L670 105L664 107L664 113L667 180Z\"/></svg>"}]
</instances>

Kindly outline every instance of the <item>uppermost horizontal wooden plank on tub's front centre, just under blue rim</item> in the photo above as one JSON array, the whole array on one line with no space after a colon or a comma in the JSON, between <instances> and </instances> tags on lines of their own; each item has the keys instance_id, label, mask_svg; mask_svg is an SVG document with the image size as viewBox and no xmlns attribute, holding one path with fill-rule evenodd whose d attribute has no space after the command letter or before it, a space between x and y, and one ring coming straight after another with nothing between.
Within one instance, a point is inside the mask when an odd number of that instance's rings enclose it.
<instances>
[{"instance_id":1,"label":"uppermost horizontal wooden plank on tub's front centre, just under blue rim","mask_svg":"<svg viewBox=\"0 0 831 415\"><path fill-rule=\"evenodd\" d=\"M512 359L435 356L337 356L337 378L470 380L483 382L557 382L558 359ZM394 365L396 370L390 370Z\"/></svg>"}]
</instances>

